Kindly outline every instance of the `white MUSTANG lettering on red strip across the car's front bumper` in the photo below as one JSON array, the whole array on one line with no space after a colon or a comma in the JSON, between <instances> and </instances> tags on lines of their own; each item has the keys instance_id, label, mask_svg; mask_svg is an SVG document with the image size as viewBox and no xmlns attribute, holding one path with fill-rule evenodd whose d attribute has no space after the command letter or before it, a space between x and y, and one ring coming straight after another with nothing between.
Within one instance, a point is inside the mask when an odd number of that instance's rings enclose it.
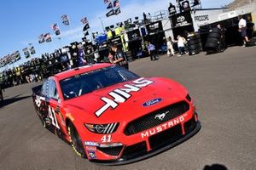
<instances>
[{"instance_id":1,"label":"white MUSTANG lettering on red strip across the car's front bumper","mask_svg":"<svg viewBox=\"0 0 256 170\"><path fill-rule=\"evenodd\" d=\"M177 124L179 124L179 123L181 123L181 122L184 122L185 116L186 116L186 115L179 116L179 117L177 117L177 118L175 118L175 119L172 119L172 120L169 121L169 122L166 122L166 123L164 123L164 124L161 124L161 125L158 126L158 127L151 128L151 129L149 129L149 130L147 130L147 131L141 133L142 139L143 139L143 138L147 138L147 137L149 137L149 136L152 136L152 135L154 135L154 134L156 134L156 133L160 133L160 132L162 132L162 131L164 131L164 130L166 130L166 129L168 129L168 128L171 128L171 127L176 126Z\"/></svg>"}]
</instances>

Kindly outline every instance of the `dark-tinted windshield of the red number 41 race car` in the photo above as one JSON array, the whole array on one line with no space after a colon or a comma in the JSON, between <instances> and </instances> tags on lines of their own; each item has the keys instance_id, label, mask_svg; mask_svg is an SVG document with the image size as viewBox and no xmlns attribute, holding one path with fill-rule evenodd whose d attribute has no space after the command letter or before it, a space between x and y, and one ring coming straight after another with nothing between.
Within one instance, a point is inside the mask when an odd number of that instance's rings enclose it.
<instances>
[{"instance_id":1,"label":"dark-tinted windshield of the red number 41 race car","mask_svg":"<svg viewBox=\"0 0 256 170\"><path fill-rule=\"evenodd\" d=\"M89 94L97 89L106 88L119 82L137 79L138 76L120 66L114 65L84 72L60 81L64 99L73 99Z\"/></svg>"}]
</instances>

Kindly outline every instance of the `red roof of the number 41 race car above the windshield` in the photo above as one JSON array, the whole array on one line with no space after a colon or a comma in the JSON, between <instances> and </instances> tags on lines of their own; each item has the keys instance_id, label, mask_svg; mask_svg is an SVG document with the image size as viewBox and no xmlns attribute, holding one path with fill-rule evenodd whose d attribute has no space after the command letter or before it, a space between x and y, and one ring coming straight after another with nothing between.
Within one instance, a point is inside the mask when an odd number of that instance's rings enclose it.
<instances>
[{"instance_id":1,"label":"red roof of the number 41 race car above the windshield","mask_svg":"<svg viewBox=\"0 0 256 170\"><path fill-rule=\"evenodd\" d=\"M82 74L84 72L89 72L89 71L95 71L97 69L101 69L104 67L111 66L112 64L108 63L102 63L102 64L94 64L94 65L84 65L81 67L74 68L69 71L63 71L58 74L55 74L53 77L55 77L58 81L61 81L63 79L66 79L68 77L73 77L79 74Z\"/></svg>"}]
</instances>

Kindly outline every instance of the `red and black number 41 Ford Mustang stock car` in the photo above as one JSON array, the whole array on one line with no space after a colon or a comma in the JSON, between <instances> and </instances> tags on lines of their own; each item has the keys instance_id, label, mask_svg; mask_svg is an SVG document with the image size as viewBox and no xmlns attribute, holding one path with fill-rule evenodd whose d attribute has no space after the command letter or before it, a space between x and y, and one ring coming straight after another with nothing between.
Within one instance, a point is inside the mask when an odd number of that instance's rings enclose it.
<instances>
[{"instance_id":1,"label":"red and black number 41 Ford Mustang stock car","mask_svg":"<svg viewBox=\"0 0 256 170\"><path fill-rule=\"evenodd\" d=\"M89 161L125 164L189 139L201 128L188 91L171 79L118 65L64 71L32 88L44 127Z\"/></svg>"}]
</instances>

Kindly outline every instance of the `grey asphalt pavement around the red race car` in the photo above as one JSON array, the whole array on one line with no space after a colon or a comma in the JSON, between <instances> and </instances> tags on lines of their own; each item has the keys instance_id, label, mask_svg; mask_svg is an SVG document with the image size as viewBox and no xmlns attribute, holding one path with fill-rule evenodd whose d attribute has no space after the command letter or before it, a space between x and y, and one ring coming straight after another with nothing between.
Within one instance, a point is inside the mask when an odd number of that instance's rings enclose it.
<instances>
[{"instance_id":1,"label":"grey asphalt pavement around the red race car","mask_svg":"<svg viewBox=\"0 0 256 170\"><path fill-rule=\"evenodd\" d=\"M169 77L189 89L201 120L191 139L123 166L107 167L76 156L70 145L44 129L36 115L31 88L8 88L0 107L0 169L256 169L256 47L224 53L160 56L130 63L142 77ZM217 168L210 168L210 170Z\"/></svg>"}]
</instances>

